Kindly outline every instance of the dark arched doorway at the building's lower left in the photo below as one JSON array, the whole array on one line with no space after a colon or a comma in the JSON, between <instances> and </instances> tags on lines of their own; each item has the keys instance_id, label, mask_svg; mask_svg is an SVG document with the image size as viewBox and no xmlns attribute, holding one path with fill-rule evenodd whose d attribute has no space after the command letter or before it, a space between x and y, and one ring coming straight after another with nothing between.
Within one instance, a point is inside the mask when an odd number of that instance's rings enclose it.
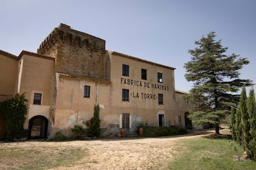
<instances>
[{"instance_id":1,"label":"dark arched doorway at the building's lower left","mask_svg":"<svg viewBox=\"0 0 256 170\"><path fill-rule=\"evenodd\" d=\"M28 124L28 139L47 138L48 119L45 116L33 116Z\"/></svg>"}]
</instances>

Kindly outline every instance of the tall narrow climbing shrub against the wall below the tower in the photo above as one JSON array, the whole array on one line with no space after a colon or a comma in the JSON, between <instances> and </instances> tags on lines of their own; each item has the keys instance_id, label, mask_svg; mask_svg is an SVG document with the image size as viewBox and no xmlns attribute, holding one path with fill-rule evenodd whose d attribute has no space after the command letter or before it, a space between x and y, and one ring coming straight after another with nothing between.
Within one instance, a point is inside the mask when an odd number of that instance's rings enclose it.
<instances>
[{"instance_id":1,"label":"tall narrow climbing shrub against the wall below the tower","mask_svg":"<svg viewBox=\"0 0 256 170\"><path fill-rule=\"evenodd\" d=\"M88 129L89 137L100 137L100 107L99 105L94 106L93 117L90 121L86 121L85 125Z\"/></svg>"}]
</instances>

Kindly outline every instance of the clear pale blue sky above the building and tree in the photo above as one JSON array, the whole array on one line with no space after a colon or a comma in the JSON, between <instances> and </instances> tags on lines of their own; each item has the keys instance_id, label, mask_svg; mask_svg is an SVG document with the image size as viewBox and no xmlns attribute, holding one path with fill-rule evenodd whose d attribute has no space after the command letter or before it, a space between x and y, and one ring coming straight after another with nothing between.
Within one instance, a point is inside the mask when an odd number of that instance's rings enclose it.
<instances>
[{"instance_id":1,"label":"clear pale blue sky above the building and tree","mask_svg":"<svg viewBox=\"0 0 256 170\"><path fill-rule=\"evenodd\" d=\"M60 23L105 39L109 51L176 68L175 88L187 92L188 51L215 31L226 55L249 60L240 78L256 83L255 0L0 0L0 49L36 52Z\"/></svg>"}]
</instances>

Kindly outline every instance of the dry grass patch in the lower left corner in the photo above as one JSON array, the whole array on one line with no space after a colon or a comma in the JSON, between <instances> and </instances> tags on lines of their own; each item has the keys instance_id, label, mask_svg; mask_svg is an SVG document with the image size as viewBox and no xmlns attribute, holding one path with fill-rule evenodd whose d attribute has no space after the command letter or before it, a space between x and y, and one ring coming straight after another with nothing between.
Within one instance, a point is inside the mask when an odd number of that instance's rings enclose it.
<instances>
[{"instance_id":1,"label":"dry grass patch in the lower left corner","mask_svg":"<svg viewBox=\"0 0 256 170\"><path fill-rule=\"evenodd\" d=\"M82 147L28 147L19 144L0 146L1 169L48 169L67 166L86 154L86 149Z\"/></svg>"}]
</instances>

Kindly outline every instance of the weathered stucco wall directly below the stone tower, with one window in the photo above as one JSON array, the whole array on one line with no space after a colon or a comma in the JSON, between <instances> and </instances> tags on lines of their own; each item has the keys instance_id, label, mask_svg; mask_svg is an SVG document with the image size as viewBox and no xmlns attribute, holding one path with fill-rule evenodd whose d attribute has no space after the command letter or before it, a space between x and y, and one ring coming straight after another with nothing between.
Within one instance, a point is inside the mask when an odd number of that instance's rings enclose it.
<instances>
[{"instance_id":1,"label":"weathered stucco wall directly below the stone tower, with one window","mask_svg":"<svg viewBox=\"0 0 256 170\"><path fill-rule=\"evenodd\" d=\"M70 129L75 124L85 127L84 122L93 117L97 95L100 106L101 127L109 124L109 120L106 119L109 116L108 82L60 75L57 84L56 109L54 113L54 127L56 129ZM84 97L84 86L90 86L90 97ZM66 131L66 133L69 132Z\"/></svg>"}]
</instances>

